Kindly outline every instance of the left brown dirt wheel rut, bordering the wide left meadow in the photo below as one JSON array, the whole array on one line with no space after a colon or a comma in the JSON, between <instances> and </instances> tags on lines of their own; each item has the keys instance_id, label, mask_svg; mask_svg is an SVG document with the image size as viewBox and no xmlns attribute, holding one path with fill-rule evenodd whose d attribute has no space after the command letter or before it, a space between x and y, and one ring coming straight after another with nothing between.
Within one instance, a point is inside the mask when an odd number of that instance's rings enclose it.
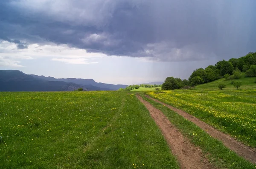
<instances>
[{"instance_id":1,"label":"left brown dirt wheel rut, bordering the wide left meadow","mask_svg":"<svg viewBox=\"0 0 256 169\"><path fill-rule=\"evenodd\" d=\"M181 169L211 169L212 166L202 154L201 149L191 144L170 123L168 118L158 109L137 95L137 98L145 105L151 117L162 130L172 153L177 156Z\"/></svg>"}]
</instances>

